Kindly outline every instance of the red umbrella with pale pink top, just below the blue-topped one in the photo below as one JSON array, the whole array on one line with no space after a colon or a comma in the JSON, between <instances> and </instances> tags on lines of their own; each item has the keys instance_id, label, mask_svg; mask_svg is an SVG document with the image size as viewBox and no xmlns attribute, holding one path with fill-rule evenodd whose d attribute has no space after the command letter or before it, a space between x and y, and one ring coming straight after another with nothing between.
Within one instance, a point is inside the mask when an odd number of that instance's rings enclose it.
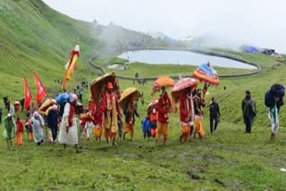
<instances>
[{"instance_id":1,"label":"red umbrella with pale pink top, just below the blue-topped one","mask_svg":"<svg viewBox=\"0 0 286 191\"><path fill-rule=\"evenodd\" d=\"M172 99L174 103L178 103L180 100L181 92L187 87L197 87L198 79L185 78L180 79L174 87L172 87Z\"/></svg>"}]
</instances>

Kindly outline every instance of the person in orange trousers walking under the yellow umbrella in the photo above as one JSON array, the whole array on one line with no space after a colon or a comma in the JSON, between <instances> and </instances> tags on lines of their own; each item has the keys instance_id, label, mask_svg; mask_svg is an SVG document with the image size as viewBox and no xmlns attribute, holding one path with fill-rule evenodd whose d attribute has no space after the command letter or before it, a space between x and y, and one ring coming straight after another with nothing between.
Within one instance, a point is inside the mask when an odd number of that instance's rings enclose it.
<instances>
[{"instance_id":1,"label":"person in orange trousers walking under the yellow umbrella","mask_svg":"<svg viewBox=\"0 0 286 191\"><path fill-rule=\"evenodd\" d=\"M131 141L133 141L135 115L139 117L139 113L136 110L134 101L130 101L128 108L124 111L125 114L125 129L123 134L123 140L125 140L126 133L130 132Z\"/></svg>"}]
</instances>

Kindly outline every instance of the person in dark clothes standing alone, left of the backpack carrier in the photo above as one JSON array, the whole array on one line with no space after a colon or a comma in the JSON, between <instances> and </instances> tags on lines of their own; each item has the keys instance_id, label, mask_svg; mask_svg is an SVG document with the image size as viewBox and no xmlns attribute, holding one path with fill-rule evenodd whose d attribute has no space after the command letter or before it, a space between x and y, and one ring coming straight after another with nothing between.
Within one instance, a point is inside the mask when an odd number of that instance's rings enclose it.
<instances>
[{"instance_id":1,"label":"person in dark clothes standing alone, left of the backpack carrier","mask_svg":"<svg viewBox=\"0 0 286 191\"><path fill-rule=\"evenodd\" d=\"M257 116L256 101L251 98L250 91L245 92L245 98L241 103L241 110L245 124L245 132L251 133L251 126L254 118Z\"/></svg>"}]
</instances>

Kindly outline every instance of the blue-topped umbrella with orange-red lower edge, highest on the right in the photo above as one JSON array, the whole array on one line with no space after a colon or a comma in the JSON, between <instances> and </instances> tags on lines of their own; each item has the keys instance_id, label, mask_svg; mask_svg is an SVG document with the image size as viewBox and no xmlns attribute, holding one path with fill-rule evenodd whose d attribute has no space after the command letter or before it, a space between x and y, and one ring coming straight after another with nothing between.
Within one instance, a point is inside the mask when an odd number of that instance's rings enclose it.
<instances>
[{"instance_id":1,"label":"blue-topped umbrella with orange-red lower edge, highest on the right","mask_svg":"<svg viewBox=\"0 0 286 191\"><path fill-rule=\"evenodd\" d=\"M194 78L205 81L210 85L218 86L220 84L217 72L210 66L210 63L200 64L196 71L194 71L193 76Z\"/></svg>"}]
</instances>

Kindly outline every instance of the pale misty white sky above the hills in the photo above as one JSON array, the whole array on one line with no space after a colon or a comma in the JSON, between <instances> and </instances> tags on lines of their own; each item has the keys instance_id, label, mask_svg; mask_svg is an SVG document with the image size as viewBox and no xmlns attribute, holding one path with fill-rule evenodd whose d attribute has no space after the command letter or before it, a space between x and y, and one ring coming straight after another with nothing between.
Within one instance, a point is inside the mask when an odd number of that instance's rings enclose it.
<instances>
[{"instance_id":1,"label":"pale misty white sky above the hills","mask_svg":"<svg viewBox=\"0 0 286 191\"><path fill-rule=\"evenodd\" d=\"M211 36L218 45L251 44L286 53L284 0L44 0L75 19L113 21L169 37Z\"/></svg>"}]
</instances>

